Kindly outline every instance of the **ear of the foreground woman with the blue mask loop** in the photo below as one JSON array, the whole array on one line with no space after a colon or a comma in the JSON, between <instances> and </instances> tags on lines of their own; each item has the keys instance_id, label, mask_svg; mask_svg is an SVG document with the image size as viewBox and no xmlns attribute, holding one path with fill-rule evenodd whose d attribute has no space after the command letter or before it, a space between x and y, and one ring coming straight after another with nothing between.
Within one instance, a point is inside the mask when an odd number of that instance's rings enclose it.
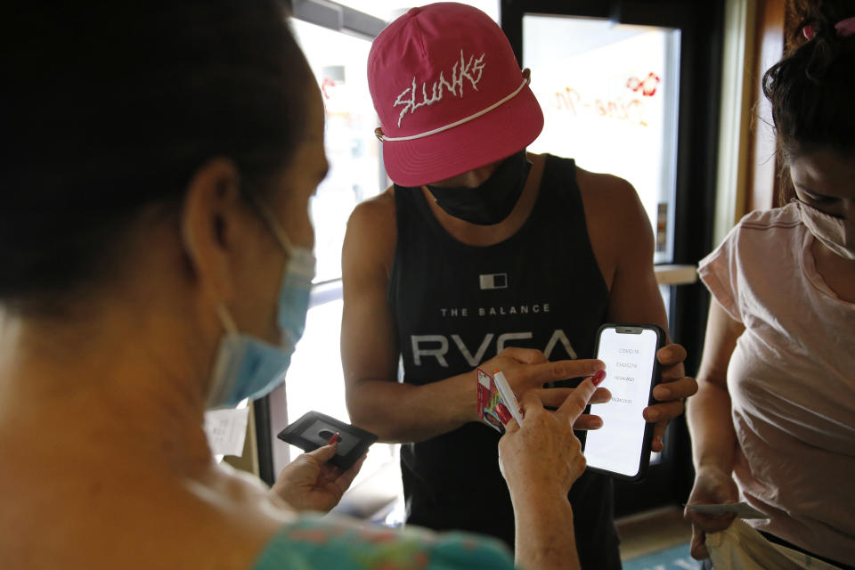
<instances>
[{"instance_id":1,"label":"ear of the foreground woman with the blue mask loop","mask_svg":"<svg viewBox=\"0 0 855 570\"><path fill-rule=\"evenodd\" d=\"M200 167L184 194L184 252L199 291L214 303L228 303L235 293L233 256L240 253L245 208L240 173L229 159L213 159Z\"/></svg>"}]
</instances>

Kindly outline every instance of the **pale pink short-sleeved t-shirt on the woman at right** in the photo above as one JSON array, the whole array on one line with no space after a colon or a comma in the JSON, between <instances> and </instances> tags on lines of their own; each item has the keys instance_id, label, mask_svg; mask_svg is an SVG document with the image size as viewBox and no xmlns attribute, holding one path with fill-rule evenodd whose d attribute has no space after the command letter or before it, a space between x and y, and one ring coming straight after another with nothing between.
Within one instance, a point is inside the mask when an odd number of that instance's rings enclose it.
<instances>
[{"instance_id":1,"label":"pale pink short-sleeved t-shirt on the woman at right","mask_svg":"<svg viewBox=\"0 0 855 570\"><path fill-rule=\"evenodd\" d=\"M700 263L745 325L728 389L734 478L753 521L820 556L855 560L855 304L817 272L795 205L752 212Z\"/></svg>"}]
</instances>

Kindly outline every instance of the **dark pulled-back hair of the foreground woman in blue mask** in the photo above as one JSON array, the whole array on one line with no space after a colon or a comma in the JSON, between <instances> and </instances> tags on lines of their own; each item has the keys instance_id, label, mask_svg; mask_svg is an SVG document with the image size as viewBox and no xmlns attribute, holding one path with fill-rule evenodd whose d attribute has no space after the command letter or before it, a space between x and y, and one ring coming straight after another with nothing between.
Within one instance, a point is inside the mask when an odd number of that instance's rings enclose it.
<instances>
[{"instance_id":1,"label":"dark pulled-back hair of the foreground woman in blue mask","mask_svg":"<svg viewBox=\"0 0 855 570\"><path fill-rule=\"evenodd\" d=\"M4 4L0 301L109 272L134 216L177 211L208 159L256 187L286 166L311 73L285 17L275 0Z\"/></svg>"}]
</instances>

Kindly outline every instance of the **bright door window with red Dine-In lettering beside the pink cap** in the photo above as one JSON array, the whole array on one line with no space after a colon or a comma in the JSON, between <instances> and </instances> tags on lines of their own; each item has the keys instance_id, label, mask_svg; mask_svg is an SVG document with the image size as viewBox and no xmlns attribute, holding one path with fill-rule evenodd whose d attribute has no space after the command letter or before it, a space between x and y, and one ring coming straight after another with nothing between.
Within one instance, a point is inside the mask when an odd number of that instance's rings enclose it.
<instances>
[{"instance_id":1,"label":"bright door window with red Dine-In lettering beside the pink cap","mask_svg":"<svg viewBox=\"0 0 855 570\"><path fill-rule=\"evenodd\" d=\"M545 118L530 150L629 181L656 232L655 262L671 263L680 30L526 14L523 55Z\"/></svg>"}]
</instances>

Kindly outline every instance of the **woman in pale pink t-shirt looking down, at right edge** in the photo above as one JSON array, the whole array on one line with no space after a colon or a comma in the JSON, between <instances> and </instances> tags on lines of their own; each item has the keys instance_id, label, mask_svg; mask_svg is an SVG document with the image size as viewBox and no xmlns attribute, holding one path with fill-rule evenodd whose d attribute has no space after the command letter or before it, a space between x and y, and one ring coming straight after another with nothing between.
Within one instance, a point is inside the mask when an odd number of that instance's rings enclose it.
<instances>
[{"instance_id":1,"label":"woman in pale pink t-shirt looking down, at right edge","mask_svg":"<svg viewBox=\"0 0 855 570\"><path fill-rule=\"evenodd\" d=\"M792 180L700 264L714 302L688 407L691 503L747 501L771 542L855 562L855 2L802 6L763 78ZM789 186L789 184L786 184ZM687 509L692 555L729 517Z\"/></svg>"}]
</instances>

